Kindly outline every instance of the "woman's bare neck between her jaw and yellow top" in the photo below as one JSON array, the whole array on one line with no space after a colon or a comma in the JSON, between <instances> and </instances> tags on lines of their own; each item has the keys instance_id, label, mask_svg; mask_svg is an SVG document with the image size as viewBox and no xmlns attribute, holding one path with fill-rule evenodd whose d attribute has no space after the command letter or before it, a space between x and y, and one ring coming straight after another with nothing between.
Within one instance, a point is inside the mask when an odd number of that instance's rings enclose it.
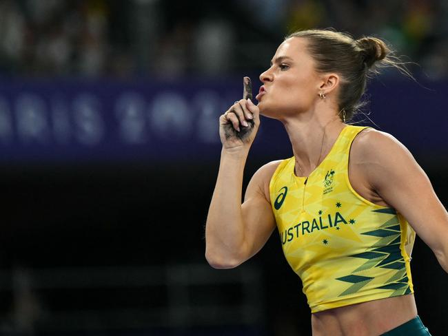
<instances>
[{"instance_id":1,"label":"woman's bare neck between her jaw and yellow top","mask_svg":"<svg viewBox=\"0 0 448 336\"><path fill-rule=\"evenodd\" d=\"M332 149L345 125L334 113L302 114L283 120L296 158L296 176L309 176Z\"/></svg>"}]
</instances>

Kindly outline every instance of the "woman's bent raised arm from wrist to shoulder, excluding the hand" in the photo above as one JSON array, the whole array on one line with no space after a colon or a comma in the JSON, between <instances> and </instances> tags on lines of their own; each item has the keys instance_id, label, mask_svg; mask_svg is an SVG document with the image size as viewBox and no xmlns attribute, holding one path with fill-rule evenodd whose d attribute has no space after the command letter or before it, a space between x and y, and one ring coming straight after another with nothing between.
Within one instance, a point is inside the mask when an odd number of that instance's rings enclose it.
<instances>
[{"instance_id":1,"label":"woman's bent raised arm from wrist to shoulder, excluding the hand","mask_svg":"<svg viewBox=\"0 0 448 336\"><path fill-rule=\"evenodd\" d=\"M260 251L275 228L269 180L279 161L256 171L241 204L245 158L221 156L218 179L205 226L205 258L216 269L238 266Z\"/></svg>"}]
</instances>

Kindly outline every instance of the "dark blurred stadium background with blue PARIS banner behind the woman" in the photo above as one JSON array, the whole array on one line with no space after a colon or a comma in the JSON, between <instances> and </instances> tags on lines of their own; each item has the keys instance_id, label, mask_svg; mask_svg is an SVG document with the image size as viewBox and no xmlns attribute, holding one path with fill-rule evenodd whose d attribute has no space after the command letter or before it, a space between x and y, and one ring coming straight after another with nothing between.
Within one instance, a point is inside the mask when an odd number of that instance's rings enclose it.
<instances>
[{"instance_id":1,"label":"dark blurred stadium background with blue PARIS banner behind the woman","mask_svg":"<svg viewBox=\"0 0 448 336\"><path fill-rule=\"evenodd\" d=\"M371 82L361 119L448 204L445 0L0 0L0 334L311 335L277 234L217 271L203 225L242 77L258 91L283 36L328 27L416 63L417 82ZM246 176L291 155L278 124ZM413 258L419 314L445 335L447 274L421 240Z\"/></svg>"}]
</instances>

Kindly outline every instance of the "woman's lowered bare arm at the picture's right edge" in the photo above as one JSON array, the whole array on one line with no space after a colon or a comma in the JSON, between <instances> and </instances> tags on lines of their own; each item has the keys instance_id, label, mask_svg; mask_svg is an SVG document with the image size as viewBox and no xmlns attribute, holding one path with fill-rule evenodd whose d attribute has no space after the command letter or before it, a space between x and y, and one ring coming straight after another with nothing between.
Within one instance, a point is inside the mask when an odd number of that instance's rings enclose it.
<instances>
[{"instance_id":1,"label":"woman's lowered bare arm at the picture's right edge","mask_svg":"<svg viewBox=\"0 0 448 336\"><path fill-rule=\"evenodd\" d=\"M384 132L361 132L352 146L371 189L403 214L448 273L448 213L409 150Z\"/></svg>"}]
</instances>

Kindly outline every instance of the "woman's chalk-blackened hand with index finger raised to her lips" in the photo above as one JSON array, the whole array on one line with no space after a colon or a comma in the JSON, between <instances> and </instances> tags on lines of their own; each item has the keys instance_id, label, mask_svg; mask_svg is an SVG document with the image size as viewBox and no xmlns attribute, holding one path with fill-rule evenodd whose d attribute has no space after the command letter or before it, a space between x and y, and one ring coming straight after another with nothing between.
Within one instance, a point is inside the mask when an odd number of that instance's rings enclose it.
<instances>
[{"instance_id":1,"label":"woman's chalk-blackened hand with index finger raised to her lips","mask_svg":"<svg viewBox=\"0 0 448 336\"><path fill-rule=\"evenodd\" d=\"M236 101L219 118L219 135L223 149L249 148L254 141L260 115L258 107L252 103L252 83L249 77L243 78L243 99Z\"/></svg>"}]
</instances>

